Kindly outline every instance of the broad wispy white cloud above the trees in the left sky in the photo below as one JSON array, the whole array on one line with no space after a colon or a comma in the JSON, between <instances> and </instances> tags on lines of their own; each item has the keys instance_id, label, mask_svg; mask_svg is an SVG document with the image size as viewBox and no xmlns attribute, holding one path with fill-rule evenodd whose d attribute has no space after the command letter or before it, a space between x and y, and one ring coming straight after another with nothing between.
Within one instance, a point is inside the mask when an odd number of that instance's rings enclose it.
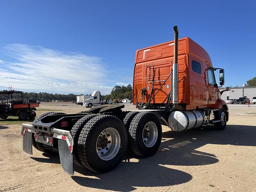
<instances>
[{"instance_id":1,"label":"broad wispy white cloud above the trees in the left sky","mask_svg":"<svg viewBox=\"0 0 256 192\"><path fill-rule=\"evenodd\" d=\"M10 44L4 52L17 62L0 60L0 86L23 91L52 93L109 94L108 72L102 59L78 53L64 53L40 46Z\"/></svg>"}]
</instances>

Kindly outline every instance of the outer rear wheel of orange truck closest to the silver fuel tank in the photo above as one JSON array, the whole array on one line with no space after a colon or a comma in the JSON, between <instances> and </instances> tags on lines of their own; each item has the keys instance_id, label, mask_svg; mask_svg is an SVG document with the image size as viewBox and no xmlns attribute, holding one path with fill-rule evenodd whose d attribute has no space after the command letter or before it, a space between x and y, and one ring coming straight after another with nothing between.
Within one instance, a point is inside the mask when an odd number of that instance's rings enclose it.
<instances>
[{"instance_id":1,"label":"outer rear wheel of orange truck closest to the silver fuel tank","mask_svg":"<svg viewBox=\"0 0 256 192\"><path fill-rule=\"evenodd\" d=\"M134 116L129 127L130 148L138 156L154 155L161 144L162 126L152 112L140 112Z\"/></svg>"}]
</instances>

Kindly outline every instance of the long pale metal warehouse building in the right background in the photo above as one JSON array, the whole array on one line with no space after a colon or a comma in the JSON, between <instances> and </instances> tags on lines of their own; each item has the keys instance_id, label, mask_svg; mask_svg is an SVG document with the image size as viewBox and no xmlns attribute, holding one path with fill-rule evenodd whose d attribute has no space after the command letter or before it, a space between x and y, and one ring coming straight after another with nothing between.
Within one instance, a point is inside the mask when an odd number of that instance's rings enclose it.
<instances>
[{"instance_id":1,"label":"long pale metal warehouse building in the right background","mask_svg":"<svg viewBox=\"0 0 256 192\"><path fill-rule=\"evenodd\" d=\"M220 91L225 88L220 88ZM226 101L228 99L238 99L246 96L252 101L253 97L256 97L256 87L230 87L230 91L224 91L221 98Z\"/></svg>"}]
</instances>

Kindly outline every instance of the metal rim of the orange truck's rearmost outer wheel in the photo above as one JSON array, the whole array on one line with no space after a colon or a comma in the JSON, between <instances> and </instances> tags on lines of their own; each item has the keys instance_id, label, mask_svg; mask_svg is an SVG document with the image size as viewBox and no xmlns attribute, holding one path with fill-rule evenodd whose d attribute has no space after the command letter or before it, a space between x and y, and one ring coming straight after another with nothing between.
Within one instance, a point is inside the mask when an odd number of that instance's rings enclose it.
<instances>
[{"instance_id":1,"label":"metal rim of the orange truck's rearmost outer wheel","mask_svg":"<svg viewBox=\"0 0 256 192\"><path fill-rule=\"evenodd\" d=\"M114 128L104 129L98 136L96 152L102 160L111 160L116 156L121 146L121 138Z\"/></svg>"}]
</instances>

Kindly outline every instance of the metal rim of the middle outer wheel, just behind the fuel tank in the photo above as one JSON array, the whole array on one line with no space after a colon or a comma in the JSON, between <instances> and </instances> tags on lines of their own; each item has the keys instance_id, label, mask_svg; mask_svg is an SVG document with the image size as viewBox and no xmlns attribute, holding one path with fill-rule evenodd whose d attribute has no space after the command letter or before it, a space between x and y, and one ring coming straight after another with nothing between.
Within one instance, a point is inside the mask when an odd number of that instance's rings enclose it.
<instances>
[{"instance_id":1,"label":"metal rim of the middle outer wheel, just behind the fuel tank","mask_svg":"<svg viewBox=\"0 0 256 192\"><path fill-rule=\"evenodd\" d=\"M157 137L158 137L158 130L157 130L156 124L154 122L148 122L144 126L143 132L142 132L143 143L147 147L152 147L154 146L154 144L156 144Z\"/></svg>"}]
</instances>

